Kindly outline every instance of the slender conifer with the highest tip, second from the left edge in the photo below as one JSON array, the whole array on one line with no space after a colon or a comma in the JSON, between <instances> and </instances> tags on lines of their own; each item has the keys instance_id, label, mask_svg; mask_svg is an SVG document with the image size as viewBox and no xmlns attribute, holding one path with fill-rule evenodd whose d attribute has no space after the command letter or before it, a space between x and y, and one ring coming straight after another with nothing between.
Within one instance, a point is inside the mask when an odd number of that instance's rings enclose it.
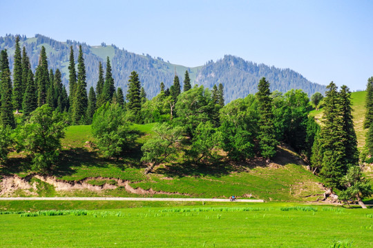
<instances>
[{"instance_id":1,"label":"slender conifer with the highest tip, second from the left edge","mask_svg":"<svg viewBox=\"0 0 373 248\"><path fill-rule=\"evenodd\" d=\"M13 64L13 95L12 103L15 110L22 109L23 85L22 85L22 57L19 47L19 36L16 37L15 61Z\"/></svg>"}]
</instances>

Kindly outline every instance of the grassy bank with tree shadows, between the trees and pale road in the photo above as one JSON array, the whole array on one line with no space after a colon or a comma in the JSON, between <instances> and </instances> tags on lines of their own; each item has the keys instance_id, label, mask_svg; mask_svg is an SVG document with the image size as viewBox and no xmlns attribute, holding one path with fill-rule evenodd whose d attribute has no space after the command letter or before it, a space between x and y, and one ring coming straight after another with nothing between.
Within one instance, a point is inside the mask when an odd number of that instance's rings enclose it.
<instances>
[{"instance_id":1,"label":"grassy bank with tree shadows, between the trees and pale road","mask_svg":"<svg viewBox=\"0 0 373 248\"><path fill-rule=\"evenodd\" d=\"M144 143L151 136L152 127L153 124L133 125L133 130L143 134L137 143ZM254 198L265 200L299 201L314 200L300 196L321 193L318 179L298 165L296 154L286 147L280 148L278 156L274 158L275 163L270 166L265 166L264 161L260 160L243 164L222 161L213 168L184 163L162 165L155 173L145 176L139 149L128 152L119 161L110 161L100 158L95 147L89 147L86 141L95 141L90 126L70 126L66 129L66 136L62 140L64 156L54 172L57 178L68 181L90 178L89 182L94 185L103 184L100 180L108 180L101 178L119 178L128 180L133 188L160 192L155 197L225 198L234 194L245 198L251 194ZM184 176L186 174L191 176ZM102 192L55 192L48 185L40 185L40 188L45 190L39 190L39 196L151 196L131 194L123 187ZM17 194L22 195L21 192Z\"/></svg>"}]
</instances>

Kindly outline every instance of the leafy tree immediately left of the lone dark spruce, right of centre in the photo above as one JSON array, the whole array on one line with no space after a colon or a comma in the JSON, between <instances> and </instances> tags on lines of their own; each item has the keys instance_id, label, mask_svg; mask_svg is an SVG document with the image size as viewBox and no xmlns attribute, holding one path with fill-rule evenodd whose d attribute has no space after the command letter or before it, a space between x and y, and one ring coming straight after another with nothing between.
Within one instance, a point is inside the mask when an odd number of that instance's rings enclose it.
<instances>
[{"instance_id":1,"label":"leafy tree immediately left of the lone dark spruce, right of centre","mask_svg":"<svg viewBox=\"0 0 373 248\"><path fill-rule=\"evenodd\" d=\"M234 160L254 156L258 103L253 95L231 101L220 110L220 147Z\"/></svg>"}]
</instances>

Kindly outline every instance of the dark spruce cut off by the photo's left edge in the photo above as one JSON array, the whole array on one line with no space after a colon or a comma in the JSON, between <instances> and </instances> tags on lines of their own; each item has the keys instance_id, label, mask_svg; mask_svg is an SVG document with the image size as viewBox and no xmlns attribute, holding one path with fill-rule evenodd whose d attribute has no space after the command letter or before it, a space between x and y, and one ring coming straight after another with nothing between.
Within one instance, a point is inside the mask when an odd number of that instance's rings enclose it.
<instances>
[{"instance_id":1,"label":"dark spruce cut off by the photo's left edge","mask_svg":"<svg viewBox=\"0 0 373 248\"><path fill-rule=\"evenodd\" d=\"M6 50L1 51L0 70L0 125L15 128L15 117L12 112L12 79L10 79L8 52Z\"/></svg>"}]
</instances>

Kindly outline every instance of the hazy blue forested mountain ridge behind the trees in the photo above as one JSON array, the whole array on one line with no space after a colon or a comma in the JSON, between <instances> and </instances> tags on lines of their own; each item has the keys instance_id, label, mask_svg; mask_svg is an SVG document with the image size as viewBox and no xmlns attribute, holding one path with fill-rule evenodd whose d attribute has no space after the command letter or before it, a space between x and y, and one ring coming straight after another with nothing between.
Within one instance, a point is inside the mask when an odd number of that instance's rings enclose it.
<instances>
[{"instance_id":1,"label":"hazy blue forested mountain ridge behind the trees","mask_svg":"<svg viewBox=\"0 0 373 248\"><path fill-rule=\"evenodd\" d=\"M41 34L33 38L21 37L21 46L26 47L30 56L32 68L35 70L38 63L38 56L41 46L44 45L47 51L49 67L52 70L59 68L62 72L63 83L68 85L68 57L70 45L75 51L75 61L79 45L82 45L87 72L88 87L96 85L98 78L98 64L101 61L106 66L106 57L109 56L113 68L115 86L122 87L126 93L128 76L133 70L140 75L140 81L144 86L149 98L160 92L160 83L164 82L166 87L173 83L176 74L184 79L185 70L189 71L192 84L212 87L213 84L224 85L225 100L228 103L233 99L242 98L247 94L255 93L259 79L265 76L271 83L271 90L287 92L292 88L302 89L311 95L314 92L325 92L324 85L318 85L307 81L302 75L289 69L278 69L264 64L256 64L244 61L236 56L224 56L223 59L213 62L209 61L203 66L187 68L182 65L175 65L165 62L162 58L153 58L149 54L139 55L119 49L115 45L91 46L77 41L60 42L45 37ZM13 55L15 52L15 36L6 35L0 37L0 50L7 49L12 68Z\"/></svg>"}]
</instances>

